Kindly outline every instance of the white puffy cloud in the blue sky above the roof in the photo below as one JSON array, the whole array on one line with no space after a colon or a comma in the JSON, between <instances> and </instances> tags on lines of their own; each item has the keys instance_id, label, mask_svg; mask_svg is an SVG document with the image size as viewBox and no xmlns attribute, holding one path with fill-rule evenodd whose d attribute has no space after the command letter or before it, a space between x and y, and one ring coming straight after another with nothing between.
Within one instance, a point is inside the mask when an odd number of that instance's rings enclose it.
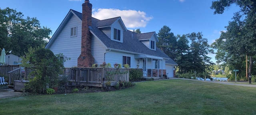
<instances>
[{"instance_id":1,"label":"white puffy cloud in the blue sky above the roof","mask_svg":"<svg viewBox=\"0 0 256 115\"><path fill-rule=\"evenodd\" d=\"M147 23L153 18L146 16L146 12L136 10L119 10L119 9L93 9L92 17L99 20L114 18L120 16L127 28L145 27Z\"/></svg>"}]
</instances>

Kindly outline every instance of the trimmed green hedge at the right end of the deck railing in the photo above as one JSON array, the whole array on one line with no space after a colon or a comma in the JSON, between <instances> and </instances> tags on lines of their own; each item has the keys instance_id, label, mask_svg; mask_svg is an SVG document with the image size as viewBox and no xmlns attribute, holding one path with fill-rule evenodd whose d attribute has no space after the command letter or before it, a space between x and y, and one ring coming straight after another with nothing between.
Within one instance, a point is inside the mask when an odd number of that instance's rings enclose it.
<instances>
[{"instance_id":1,"label":"trimmed green hedge at the right end of the deck railing","mask_svg":"<svg viewBox=\"0 0 256 115\"><path fill-rule=\"evenodd\" d=\"M140 81L143 78L143 72L141 69L130 69L129 70L129 80L130 81Z\"/></svg>"}]
</instances>

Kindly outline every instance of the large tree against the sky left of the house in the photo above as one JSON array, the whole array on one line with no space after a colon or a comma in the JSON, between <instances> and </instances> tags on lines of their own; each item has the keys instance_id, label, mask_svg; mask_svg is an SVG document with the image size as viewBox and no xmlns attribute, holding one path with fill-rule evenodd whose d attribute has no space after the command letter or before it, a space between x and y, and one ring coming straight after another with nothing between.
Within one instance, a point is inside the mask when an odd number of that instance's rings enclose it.
<instances>
[{"instance_id":1,"label":"large tree against the sky left of the house","mask_svg":"<svg viewBox=\"0 0 256 115\"><path fill-rule=\"evenodd\" d=\"M40 26L36 18L23 18L21 12L6 8L0 9L0 48L12 54L23 56L28 48L42 47L50 39L50 28Z\"/></svg>"}]
</instances>

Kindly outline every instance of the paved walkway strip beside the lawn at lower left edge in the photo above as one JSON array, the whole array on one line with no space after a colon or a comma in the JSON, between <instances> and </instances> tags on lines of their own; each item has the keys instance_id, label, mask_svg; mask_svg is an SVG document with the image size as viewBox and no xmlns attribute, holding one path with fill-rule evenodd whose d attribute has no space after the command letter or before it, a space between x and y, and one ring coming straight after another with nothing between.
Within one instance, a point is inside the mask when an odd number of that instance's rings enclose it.
<instances>
[{"instance_id":1,"label":"paved walkway strip beside the lawn at lower left edge","mask_svg":"<svg viewBox=\"0 0 256 115\"><path fill-rule=\"evenodd\" d=\"M13 89L0 89L0 99L20 95L22 95L22 92L14 91Z\"/></svg>"}]
</instances>

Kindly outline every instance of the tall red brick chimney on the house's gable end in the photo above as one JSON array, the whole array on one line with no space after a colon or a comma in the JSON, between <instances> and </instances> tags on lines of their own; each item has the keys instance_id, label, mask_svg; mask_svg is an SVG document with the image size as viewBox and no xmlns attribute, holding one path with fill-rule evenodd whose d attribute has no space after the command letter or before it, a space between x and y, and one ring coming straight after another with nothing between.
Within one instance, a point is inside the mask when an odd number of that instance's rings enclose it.
<instances>
[{"instance_id":1,"label":"tall red brick chimney on the house's gable end","mask_svg":"<svg viewBox=\"0 0 256 115\"><path fill-rule=\"evenodd\" d=\"M84 0L84 4L82 4L81 54L77 59L77 67L90 67L94 63L91 53L92 34L89 31L89 26L92 26L92 4L89 0Z\"/></svg>"}]
</instances>

